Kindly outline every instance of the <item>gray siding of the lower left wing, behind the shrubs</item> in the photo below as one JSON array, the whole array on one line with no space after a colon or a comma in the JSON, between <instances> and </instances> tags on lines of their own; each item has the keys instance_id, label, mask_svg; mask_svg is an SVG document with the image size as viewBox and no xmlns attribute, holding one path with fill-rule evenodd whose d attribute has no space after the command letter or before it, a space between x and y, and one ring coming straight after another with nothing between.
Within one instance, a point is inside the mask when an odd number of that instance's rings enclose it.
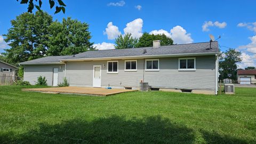
<instances>
[{"instance_id":1,"label":"gray siding of the lower left wing, behind the shrubs","mask_svg":"<svg viewBox=\"0 0 256 144\"><path fill-rule=\"evenodd\" d=\"M60 69L61 66L61 69ZM34 85L37 77L43 76L47 79L47 84L52 86L53 83L53 68L58 68L58 83L63 82L65 77L65 65L29 65L25 66L24 81L28 81Z\"/></svg>"}]
</instances>

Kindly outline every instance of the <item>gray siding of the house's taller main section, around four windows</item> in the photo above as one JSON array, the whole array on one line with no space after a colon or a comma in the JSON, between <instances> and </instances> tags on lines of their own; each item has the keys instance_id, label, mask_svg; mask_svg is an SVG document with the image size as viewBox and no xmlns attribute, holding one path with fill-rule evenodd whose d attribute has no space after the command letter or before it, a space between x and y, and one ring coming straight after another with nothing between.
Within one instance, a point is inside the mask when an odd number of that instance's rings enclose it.
<instances>
[{"instance_id":1,"label":"gray siding of the house's taller main section, around four windows","mask_svg":"<svg viewBox=\"0 0 256 144\"><path fill-rule=\"evenodd\" d=\"M159 88L215 89L215 55L196 57L196 71L179 71L178 59L159 58L159 71L145 71L144 82ZM107 61L67 62L67 78L70 85L92 86L93 65L101 65L102 87L139 87L143 61L137 60L137 71L124 71L124 60L118 60L118 74L107 74Z\"/></svg>"}]
</instances>

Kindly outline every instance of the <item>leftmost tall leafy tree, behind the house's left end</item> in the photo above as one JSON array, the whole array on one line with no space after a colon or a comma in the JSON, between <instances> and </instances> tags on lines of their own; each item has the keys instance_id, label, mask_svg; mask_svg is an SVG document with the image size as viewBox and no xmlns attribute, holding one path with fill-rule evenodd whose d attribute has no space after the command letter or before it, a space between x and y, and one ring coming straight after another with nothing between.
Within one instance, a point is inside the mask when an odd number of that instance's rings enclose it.
<instances>
[{"instance_id":1,"label":"leftmost tall leafy tree, behind the house's left end","mask_svg":"<svg viewBox=\"0 0 256 144\"><path fill-rule=\"evenodd\" d=\"M6 49L6 59L11 63L41 58L46 53L48 43L48 27L52 16L46 12L22 13L11 20L12 27L4 39L11 46Z\"/></svg>"}]
</instances>

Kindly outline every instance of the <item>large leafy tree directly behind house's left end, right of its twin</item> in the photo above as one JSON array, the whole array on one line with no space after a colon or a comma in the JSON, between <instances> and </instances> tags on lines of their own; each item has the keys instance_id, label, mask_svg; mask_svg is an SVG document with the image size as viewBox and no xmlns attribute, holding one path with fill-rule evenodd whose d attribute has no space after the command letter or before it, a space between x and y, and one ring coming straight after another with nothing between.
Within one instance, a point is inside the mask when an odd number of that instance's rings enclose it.
<instances>
[{"instance_id":1,"label":"large leafy tree directly behind house's left end, right of its twin","mask_svg":"<svg viewBox=\"0 0 256 144\"><path fill-rule=\"evenodd\" d=\"M49 27L47 55L71 55L94 50L89 25L70 17L55 21Z\"/></svg>"}]
</instances>

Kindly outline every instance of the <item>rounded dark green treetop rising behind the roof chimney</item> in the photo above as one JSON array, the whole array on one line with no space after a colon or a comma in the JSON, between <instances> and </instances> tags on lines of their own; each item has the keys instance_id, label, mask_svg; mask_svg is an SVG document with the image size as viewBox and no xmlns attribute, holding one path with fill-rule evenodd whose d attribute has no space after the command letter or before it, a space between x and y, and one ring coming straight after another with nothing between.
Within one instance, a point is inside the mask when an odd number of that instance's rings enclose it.
<instances>
[{"instance_id":1,"label":"rounded dark green treetop rising behind the roof chimney","mask_svg":"<svg viewBox=\"0 0 256 144\"><path fill-rule=\"evenodd\" d=\"M173 41L172 38L167 37L164 34L158 34L158 35L150 35L148 33L144 33L140 38L139 42L136 44L136 47L150 47L153 46L153 41L160 40L161 45L172 45Z\"/></svg>"}]
</instances>

